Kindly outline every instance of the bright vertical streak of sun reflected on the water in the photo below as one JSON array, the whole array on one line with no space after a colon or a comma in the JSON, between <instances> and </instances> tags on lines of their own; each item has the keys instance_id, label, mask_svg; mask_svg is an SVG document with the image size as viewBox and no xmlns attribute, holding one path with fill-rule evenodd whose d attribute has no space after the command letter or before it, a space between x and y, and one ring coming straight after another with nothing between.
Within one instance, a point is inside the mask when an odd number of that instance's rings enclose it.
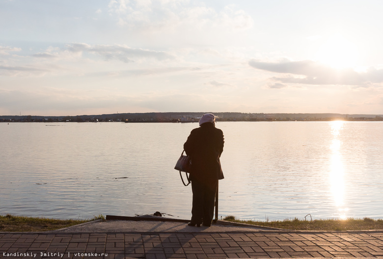
<instances>
[{"instance_id":1,"label":"bright vertical streak of sun reflected on the water","mask_svg":"<svg viewBox=\"0 0 383 259\"><path fill-rule=\"evenodd\" d=\"M339 218L346 219L348 208L344 207L345 173L342 163L341 141L338 139L344 121L332 121L330 123L333 140L330 145L332 151L330 165L330 184L335 206L338 208Z\"/></svg>"}]
</instances>

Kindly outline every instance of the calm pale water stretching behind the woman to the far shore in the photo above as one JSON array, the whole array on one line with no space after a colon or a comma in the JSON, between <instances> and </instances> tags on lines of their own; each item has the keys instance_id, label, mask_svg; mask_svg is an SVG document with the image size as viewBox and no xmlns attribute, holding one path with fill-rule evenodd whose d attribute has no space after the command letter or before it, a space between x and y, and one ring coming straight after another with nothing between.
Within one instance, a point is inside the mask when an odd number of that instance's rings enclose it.
<instances>
[{"instance_id":1,"label":"calm pale water stretching behind the woman to the far shore","mask_svg":"<svg viewBox=\"0 0 383 259\"><path fill-rule=\"evenodd\" d=\"M191 217L197 123L0 123L0 214ZM383 218L383 122L219 122L219 215Z\"/></svg>"}]
</instances>

